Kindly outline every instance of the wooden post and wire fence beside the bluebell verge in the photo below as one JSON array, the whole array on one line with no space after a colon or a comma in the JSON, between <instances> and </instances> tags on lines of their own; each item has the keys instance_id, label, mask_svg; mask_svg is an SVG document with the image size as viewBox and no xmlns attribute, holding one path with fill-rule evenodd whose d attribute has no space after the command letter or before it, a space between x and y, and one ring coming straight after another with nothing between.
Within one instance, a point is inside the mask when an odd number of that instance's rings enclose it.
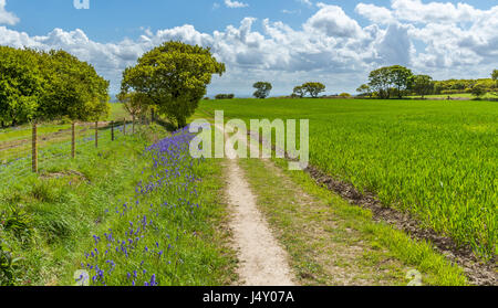
<instances>
[{"instance_id":1,"label":"wooden post and wire fence beside the bluebell verge","mask_svg":"<svg viewBox=\"0 0 498 308\"><path fill-rule=\"evenodd\" d=\"M134 135L144 118L120 121L31 124L0 130L0 187L38 174L63 159L85 159L91 149L105 148Z\"/></svg>"}]
</instances>

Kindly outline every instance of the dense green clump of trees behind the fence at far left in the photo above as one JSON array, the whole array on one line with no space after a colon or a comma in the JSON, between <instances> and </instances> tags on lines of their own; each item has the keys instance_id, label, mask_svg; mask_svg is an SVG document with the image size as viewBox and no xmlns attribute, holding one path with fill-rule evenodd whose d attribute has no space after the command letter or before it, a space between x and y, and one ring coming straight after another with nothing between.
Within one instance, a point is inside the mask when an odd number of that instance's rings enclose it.
<instances>
[{"instance_id":1,"label":"dense green clump of trees behind the fence at far left","mask_svg":"<svg viewBox=\"0 0 498 308\"><path fill-rule=\"evenodd\" d=\"M0 125L107 117L108 85L92 65L64 51L0 46Z\"/></svg>"}]
</instances>

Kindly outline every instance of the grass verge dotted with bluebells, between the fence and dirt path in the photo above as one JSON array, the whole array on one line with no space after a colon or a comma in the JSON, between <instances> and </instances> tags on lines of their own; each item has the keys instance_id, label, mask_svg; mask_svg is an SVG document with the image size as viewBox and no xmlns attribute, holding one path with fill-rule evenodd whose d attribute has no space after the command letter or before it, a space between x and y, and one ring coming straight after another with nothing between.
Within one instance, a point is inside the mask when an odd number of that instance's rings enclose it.
<instances>
[{"instance_id":1,"label":"grass verge dotted with bluebells, between the fence and dirt path","mask_svg":"<svg viewBox=\"0 0 498 308\"><path fill-rule=\"evenodd\" d=\"M141 137L157 130L143 132L0 192L1 251L15 259L1 285L74 285L76 270L97 286L234 279L235 254L217 227L221 167L190 159L178 139L144 153L151 140Z\"/></svg>"}]
</instances>

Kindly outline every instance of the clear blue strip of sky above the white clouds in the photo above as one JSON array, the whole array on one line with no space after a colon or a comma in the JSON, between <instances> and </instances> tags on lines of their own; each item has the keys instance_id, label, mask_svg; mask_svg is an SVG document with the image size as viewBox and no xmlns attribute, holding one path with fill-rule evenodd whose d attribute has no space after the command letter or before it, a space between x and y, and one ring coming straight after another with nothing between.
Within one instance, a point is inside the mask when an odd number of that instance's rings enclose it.
<instances>
[{"instance_id":1,"label":"clear blue strip of sky above the white clouds","mask_svg":"<svg viewBox=\"0 0 498 308\"><path fill-rule=\"evenodd\" d=\"M142 34L141 28L153 31L189 23L201 32L224 30L229 24L238 24L245 17L269 18L282 21L293 28L301 24L317 11L314 6L299 0L246 0L249 7L230 9L224 1L210 0L90 0L90 10L75 10L73 0L10 0L7 9L21 20L12 26L32 35L43 35L54 28L64 30L82 29L90 39L101 42L121 41ZM361 25L367 21L354 12L357 3L374 3L388 7L391 0L335 0L321 1L335 4L354 17ZM429 1L425 1L429 2ZM489 9L496 0L445 0L465 2L478 9ZM218 9L214 4L219 3ZM282 12L288 10L289 13Z\"/></svg>"}]
</instances>

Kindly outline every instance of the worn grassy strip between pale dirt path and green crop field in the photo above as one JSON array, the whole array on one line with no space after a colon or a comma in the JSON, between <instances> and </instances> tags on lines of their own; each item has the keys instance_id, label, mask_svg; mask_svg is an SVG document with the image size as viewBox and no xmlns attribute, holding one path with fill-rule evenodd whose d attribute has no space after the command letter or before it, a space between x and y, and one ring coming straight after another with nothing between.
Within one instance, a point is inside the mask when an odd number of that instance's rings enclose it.
<instances>
[{"instance_id":1,"label":"worn grassy strip between pale dirt path and green crop field","mask_svg":"<svg viewBox=\"0 0 498 308\"><path fill-rule=\"evenodd\" d=\"M467 285L463 270L428 243L373 222L369 210L287 170L286 161L274 160L279 168L257 159L240 163L301 284L406 285L406 274L417 269L424 285Z\"/></svg>"}]
</instances>

